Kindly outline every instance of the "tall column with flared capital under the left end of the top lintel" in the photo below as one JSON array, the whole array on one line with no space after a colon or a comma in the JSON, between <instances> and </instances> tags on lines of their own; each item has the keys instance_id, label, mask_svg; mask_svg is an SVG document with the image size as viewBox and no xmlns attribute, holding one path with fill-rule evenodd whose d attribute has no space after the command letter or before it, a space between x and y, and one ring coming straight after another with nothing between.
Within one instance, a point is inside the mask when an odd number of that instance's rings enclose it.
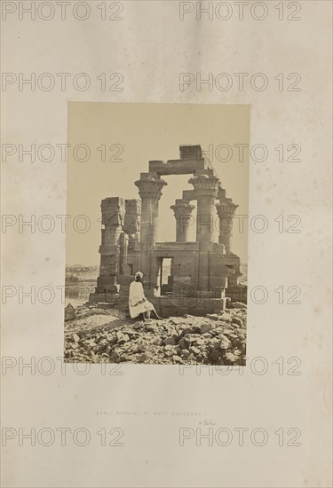
<instances>
[{"instance_id":1,"label":"tall column with flared capital under the left end of the top lintel","mask_svg":"<svg viewBox=\"0 0 333 488\"><path fill-rule=\"evenodd\" d=\"M158 202L162 195L162 188L167 183L157 175L154 177L149 173L141 173L135 185L139 188L141 198L140 240L144 245L152 244L158 239Z\"/></svg>"}]
</instances>

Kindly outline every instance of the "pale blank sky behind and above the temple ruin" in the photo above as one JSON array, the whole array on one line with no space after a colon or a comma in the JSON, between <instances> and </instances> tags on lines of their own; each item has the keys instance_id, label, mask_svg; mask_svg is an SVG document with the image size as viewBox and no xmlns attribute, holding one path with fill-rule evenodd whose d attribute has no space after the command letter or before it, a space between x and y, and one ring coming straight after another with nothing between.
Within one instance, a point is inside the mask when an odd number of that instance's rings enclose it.
<instances>
[{"instance_id":1,"label":"pale blank sky behind and above the temple ruin","mask_svg":"<svg viewBox=\"0 0 333 488\"><path fill-rule=\"evenodd\" d=\"M178 159L182 144L202 146L212 157L226 196L239 205L236 214L248 215L249 151L244 151L244 161L240 161L234 145L250 145L249 105L69 102L68 144L67 265L99 264L100 201L115 196L139 199L134 182L148 171L148 161ZM90 148L88 161L77 161L84 159L83 148L73 150L82 144ZM230 161L221 161L226 159L226 149L218 154L220 145L231 146ZM107 161L102 161L104 147ZM175 240L176 220L170 205L181 198L183 190L193 189L187 183L190 177L163 177L168 185L160 200L160 241ZM79 215L84 219L75 220ZM86 222L89 230L78 232ZM233 234L232 251L247 263L247 233L239 232L237 224ZM194 236L195 225L191 239Z\"/></svg>"}]
</instances>

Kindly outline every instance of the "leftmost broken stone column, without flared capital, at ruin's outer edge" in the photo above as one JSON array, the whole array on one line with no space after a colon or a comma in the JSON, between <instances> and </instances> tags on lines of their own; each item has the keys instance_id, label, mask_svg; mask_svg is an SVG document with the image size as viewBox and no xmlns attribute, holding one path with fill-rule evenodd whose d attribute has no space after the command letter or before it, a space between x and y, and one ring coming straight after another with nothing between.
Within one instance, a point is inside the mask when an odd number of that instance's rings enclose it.
<instances>
[{"instance_id":1,"label":"leftmost broken stone column, without flared capital, at ruin's outer edge","mask_svg":"<svg viewBox=\"0 0 333 488\"><path fill-rule=\"evenodd\" d=\"M120 239L123 234L125 205L122 198L107 198L101 203L102 245L97 291L110 292L118 284L120 272Z\"/></svg>"}]
</instances>

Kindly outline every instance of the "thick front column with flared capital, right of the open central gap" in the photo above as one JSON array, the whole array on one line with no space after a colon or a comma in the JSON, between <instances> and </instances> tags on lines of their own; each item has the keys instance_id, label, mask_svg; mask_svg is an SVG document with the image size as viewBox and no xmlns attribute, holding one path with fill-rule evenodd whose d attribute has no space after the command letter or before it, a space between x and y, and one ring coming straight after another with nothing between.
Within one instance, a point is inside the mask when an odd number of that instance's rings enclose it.
<instances>
[{"instance_id":1,"label":"thick front column with flared capital, right of the open central gap","mask_svg":"<svg viewBox=\"0 0 333 488\"><path fill-rule=\"evenodd\" d=\"M218 194L219 179L213 171L207 169L198 176L190 178L194 185L197 200L196 209L196 240L201 245L209 245L215 238L216 207L215 199Z\"/></svg>"}]
</instances>

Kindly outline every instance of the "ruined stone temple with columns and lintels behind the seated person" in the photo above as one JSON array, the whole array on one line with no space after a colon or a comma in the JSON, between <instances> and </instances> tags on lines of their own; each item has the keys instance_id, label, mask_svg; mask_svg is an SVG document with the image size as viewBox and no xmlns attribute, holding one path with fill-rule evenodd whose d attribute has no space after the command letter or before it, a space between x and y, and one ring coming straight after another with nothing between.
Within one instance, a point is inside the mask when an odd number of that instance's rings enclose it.
<instances>
[{"instance_id":1,"label":"ruined stone temple with columns and lintels behind the seated person","mask_svg":"<svg viewBox=\"0 0 333 488\"><path fill-rule=\"evenodd\" d=\"M99 278L89 303L127 303L137 271L144 274L148 300L164 317L221 311L227 296L246 303L246 287L238 284L242 276L240 258L231 250L232 223L238 206L226 198L226 190L202 155L201 146L180 146L179 151L178 160L149 161L149 171L141 173L135 182L141 200L111 197L101 202ZM171 206L176 241L160 242L159 201L167 185L162 177L168 175L192 175L189 183L194 189L183 191ZM214 232L217 222L218 242ZM196 225L195 241L189 240L191 224Z\"/></svg>"}]
</instances>

